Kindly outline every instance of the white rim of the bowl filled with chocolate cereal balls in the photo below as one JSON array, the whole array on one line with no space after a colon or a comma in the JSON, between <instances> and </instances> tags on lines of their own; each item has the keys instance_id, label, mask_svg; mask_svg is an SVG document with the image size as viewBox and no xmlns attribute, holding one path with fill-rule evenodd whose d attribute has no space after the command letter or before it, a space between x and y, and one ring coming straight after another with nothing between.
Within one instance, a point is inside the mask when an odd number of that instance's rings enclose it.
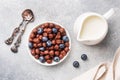
<instances>
[{"instance_id":1,"label":"white rim of the bowl filled with chocolate cereal balls","mask_svg":"<svg viewBox=\"0 0 120 80\"><path fill-rule=\"evenodd\" d=\"M54 22L54 21L44 21L44 22L41 22L38 26L40 26L41 24L44 24L44 23L53 23L53 24L59 25L59 26L61 26L62 28L65 29L66 34L67 34L67 36L68 36L68 38L69 38L69 43L70 43L70 45L69 45L69 51L67 52L67 54L66 54L59 62L54 62L54 61L53 61L51 64L48 64L47 62L41 63L39 60L35 59L35 58L31 55L31 52L30 52L30 49L29 49L28 45L27 45L27 48L28 48L29 55L31 56L31 58L32 58L35 62L37 62L38 64L41 64L41 65L43 65L43 66L54 66L54 65L57 65L57 64L60 64L61 62L63 62L63 61L67 58L67 56L70 54L70 51L71 51L71 38L70 38L70 35L69 35L68 30L67 30L65 27L63 27L61 24L59 24L59 23L57 23L57 22ZM36 27L38 27L38 26L36 26ZM34 28L36 28L36 27L34 27ZM32 28L32 30L33 30L34 28ZM31 30L31 31L32 31L32 30ZM30 34L31 34L31 32L30 32ZM28 35L28 39L29 39L29 37L30 37L30 34ZM28 40L27 40L27 42L29 43Z\"/></svg>"}]
</instances>

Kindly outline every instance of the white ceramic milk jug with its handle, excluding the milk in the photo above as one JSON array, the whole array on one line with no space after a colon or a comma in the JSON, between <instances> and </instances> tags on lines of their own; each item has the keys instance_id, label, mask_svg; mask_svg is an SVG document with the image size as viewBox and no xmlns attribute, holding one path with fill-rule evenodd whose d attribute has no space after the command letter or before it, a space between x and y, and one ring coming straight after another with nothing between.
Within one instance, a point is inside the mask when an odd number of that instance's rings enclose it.
<instances>
[{"instance_id":1,"label":"white ceramic milk jug with its handle, excluding the milk","mask_svg":"<svg viewBox=\"0 0 120 80\"><path fill-rule=\"evenodd\" d=\"M75 21L75 24L74 24L74 34L75 34L75 37L77 38L77 41L79 41L83 44L86 44L86 45L95 45L95 44L100 43L105 38L105 36L108 32L107 19L109 19L109 17L111 17L114 14L114 12L115 12L114 9L111 8L104 15L100 15L100 14L94 13L94 12L87 12L87 13L84 13L84 14L80 15L77 18L77 20ZM79 36L81 34L83 23L90 16L97 16L105 22L105 24L104 24L104 28L105 28L104 29L104 34L102 34L102 36L98 36L96 39L81 39Z\"/></svg>"}]
</instances>

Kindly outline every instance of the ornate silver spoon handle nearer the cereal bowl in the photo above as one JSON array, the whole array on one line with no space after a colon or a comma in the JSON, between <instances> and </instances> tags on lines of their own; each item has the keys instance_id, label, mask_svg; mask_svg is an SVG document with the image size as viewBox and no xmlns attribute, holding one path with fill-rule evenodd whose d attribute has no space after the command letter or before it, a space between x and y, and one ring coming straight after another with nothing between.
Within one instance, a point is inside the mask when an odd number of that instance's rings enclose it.
<instances>
[{"instance_id":1,"label":"ornate silver spoon handle nearer the cereal bowl","mask_svg":"<svg viewBox=\"0 0 120 80\"><path fill-rule=\"evenodd\" d=\"M20 46L21 38L22 38L22 36L23 36L23 34L25 32L27 24L28 24L28 22L26 22L25 25L22 27L20 35L18 36L16 42L14 43L14 46L11 47L11 51L14 52L14 53L18 52L18 47Z\"/></svg>"}]
</instances>

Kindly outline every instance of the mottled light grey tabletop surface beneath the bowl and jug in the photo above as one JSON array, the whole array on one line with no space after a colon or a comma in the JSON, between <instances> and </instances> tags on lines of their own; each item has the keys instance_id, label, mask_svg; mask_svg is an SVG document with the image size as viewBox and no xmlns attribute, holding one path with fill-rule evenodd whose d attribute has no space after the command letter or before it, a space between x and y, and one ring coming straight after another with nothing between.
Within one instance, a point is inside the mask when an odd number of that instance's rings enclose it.
<instances>
[{"instance_id":1,"label":"mottled light grey tabletop surface beneath the bowl and jug","mask_svg":"<svg viewBox=\"0 0 120 80\"><path fill-rule=\"evenodd\" d=\"M120 45L120 11L109 20L109 32L104 41L96 46L85 46L76 41L73 25L76 18L87 11L104 14L112 7L120 8L120 0L0 0L0 80L71 80L102 61L111 61ZM22 20L21 12L30 8L35 21L28 25L18 54L4 44L13 28ZM67 59L53 67L34 62L27 51L27 38L35 26L44 21L55 21L65 26L72 39L72 50ZM88 55L88 61L80 59ZM74 60L80 68L72 66Z\"/></svg>"}]
</instances>

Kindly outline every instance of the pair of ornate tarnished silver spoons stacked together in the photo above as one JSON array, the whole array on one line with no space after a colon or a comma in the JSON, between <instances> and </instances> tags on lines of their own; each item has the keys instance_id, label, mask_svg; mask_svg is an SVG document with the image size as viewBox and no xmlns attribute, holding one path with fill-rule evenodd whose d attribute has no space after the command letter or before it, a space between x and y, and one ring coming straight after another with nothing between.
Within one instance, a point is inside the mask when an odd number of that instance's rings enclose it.
<instances>
[{"instance_id":1,"label":"pair of ornate tarnished silver spoons stacked together","mask_svg":"<svg viewBox=\"0 0 120 80\"><path fill-rule=\"evenodd\" d=\"M26 29L26 26L28 23L30 22L33 22L34 21L34 14L32 12L32 10L30 9L26 9L22 12L22 22L20 23L20 25L18 27L16 27L14 30L13 30L13 33L12 35L7 39L5 40L5 43L7 45L11 45L14 38L18 35L19 33L19 36L16 40L16 42L14 43L14 45L11 47L11 51L14 52L14 53L17 53L18 52L18 47L20 46L20 43L21 43L21 38L25 32L25 29Z\"/></svg>"}]
</instances>

